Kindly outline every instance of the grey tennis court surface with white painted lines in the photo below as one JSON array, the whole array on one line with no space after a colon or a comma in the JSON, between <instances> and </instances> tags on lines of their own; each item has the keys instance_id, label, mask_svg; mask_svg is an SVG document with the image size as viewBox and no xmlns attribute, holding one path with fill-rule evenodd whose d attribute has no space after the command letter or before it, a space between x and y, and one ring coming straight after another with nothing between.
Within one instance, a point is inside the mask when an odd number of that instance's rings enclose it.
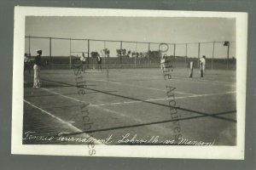
<instances>
[{"instance_id":1,"label":"grey tennis court surface with white painted lines","mask_svg":"<svg viewBox=\"0 0 256 170\"><path fill-rule=\"evenodd\" d=\"M42 88L32 88L33 75L24 76L23 132L37 135L68 133L118 143L130 139L174 139L166 85L175 87L175 101L183 138L215 145L236 145L236 71L174 68L165 81L160 68L86 70L76 79L71 70L41 70ZM82 80L82 81L81 81ZM79 87L77 82L79 82ZM81 87L81 84L83 87ZM79 95L83 88L84 95ZM81 106L86 105L87 124ZM90 127L90 129L89 129ZM70 141L23 140L23 144L81 144ZM131 144L131 143L127 143Z\"/></svg>"}]
</instances>

